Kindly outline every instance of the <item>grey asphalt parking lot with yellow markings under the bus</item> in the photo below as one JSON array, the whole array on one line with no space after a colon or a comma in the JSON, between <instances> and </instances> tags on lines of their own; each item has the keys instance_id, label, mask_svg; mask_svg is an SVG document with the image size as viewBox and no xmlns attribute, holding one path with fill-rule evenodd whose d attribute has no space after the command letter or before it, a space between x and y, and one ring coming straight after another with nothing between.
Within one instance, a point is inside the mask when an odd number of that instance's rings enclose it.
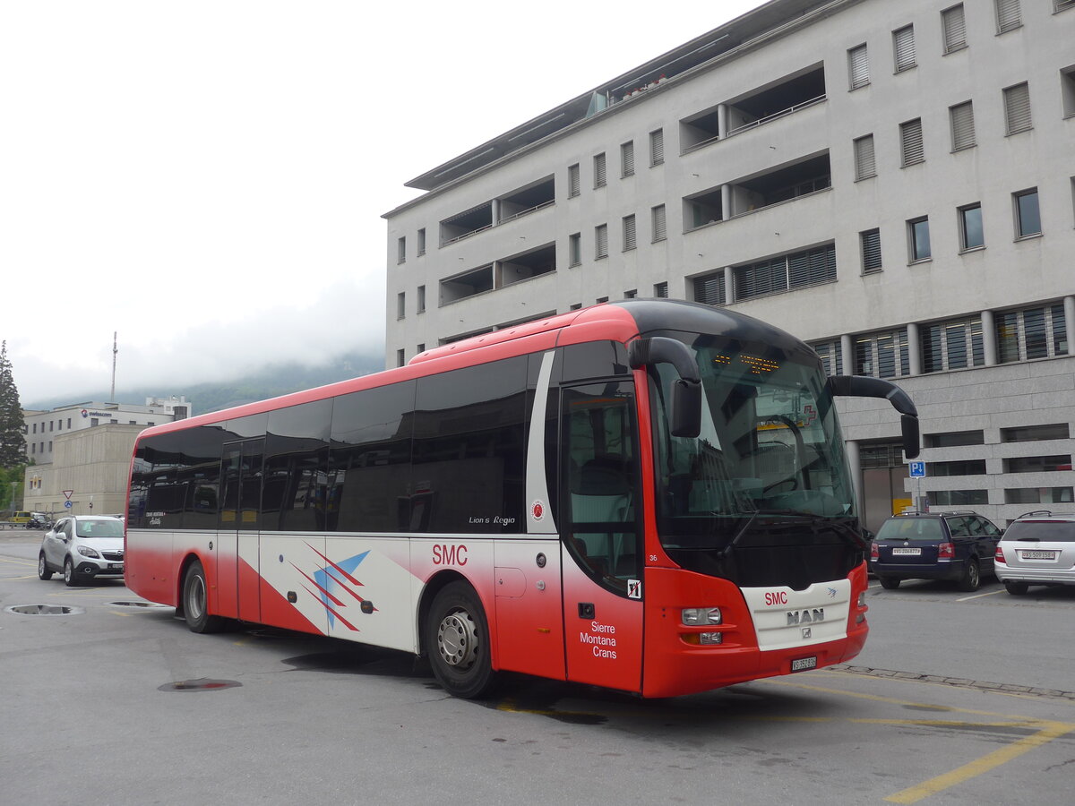
<instances>
[{"instance_id":1,"label":"grey asphalt parking lot with yellow markings under the bus","mask_svg":"<svg viewBox=\"0 0 1075 806\"><path fill-rule=\"evenodd\" d=\"M1075 591L872 581L870 639L843 667L664 701L518 676L465 702L410 656L195 635L119 581L41 581L35 557L0 537L6 803L1007 804L1075 787ZM43 611L9 609L25 605Z\"/></svg>"}]
</instances>

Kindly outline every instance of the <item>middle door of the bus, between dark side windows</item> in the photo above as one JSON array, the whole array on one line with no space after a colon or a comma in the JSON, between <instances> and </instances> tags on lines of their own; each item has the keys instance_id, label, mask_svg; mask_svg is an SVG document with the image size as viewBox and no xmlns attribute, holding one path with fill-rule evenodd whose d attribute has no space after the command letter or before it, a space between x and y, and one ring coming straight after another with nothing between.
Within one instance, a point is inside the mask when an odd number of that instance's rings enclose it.
<instances>
[{"instance_id":1,"label":"middle door of the bus, between dark side windows","mask_svg":"<svg viewBox=\"0 0 1075 806\"><path fill-rule=\"evenodd\" d=\"M217 615L259 621L258 533L264 440L227 443L220 458L216 541Z\"/></svg>"}]
</instances>

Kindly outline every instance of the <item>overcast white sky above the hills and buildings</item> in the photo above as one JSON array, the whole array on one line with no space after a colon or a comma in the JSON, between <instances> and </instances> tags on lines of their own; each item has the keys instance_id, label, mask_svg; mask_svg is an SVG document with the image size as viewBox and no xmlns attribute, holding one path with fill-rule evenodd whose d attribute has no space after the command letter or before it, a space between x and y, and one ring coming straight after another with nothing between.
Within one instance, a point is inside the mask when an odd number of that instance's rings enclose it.
<instances>
[{"instance_id":1,"label":"overcast white sky above the hills and buildings","mask_svg":"<svg viewBox=\"0 0 1075 806\"><path fill-rule=\"evenodd\" d=\"M381 356L404 182L760 4L0 0L24 405Z\"/></svg>"}]
</instances>

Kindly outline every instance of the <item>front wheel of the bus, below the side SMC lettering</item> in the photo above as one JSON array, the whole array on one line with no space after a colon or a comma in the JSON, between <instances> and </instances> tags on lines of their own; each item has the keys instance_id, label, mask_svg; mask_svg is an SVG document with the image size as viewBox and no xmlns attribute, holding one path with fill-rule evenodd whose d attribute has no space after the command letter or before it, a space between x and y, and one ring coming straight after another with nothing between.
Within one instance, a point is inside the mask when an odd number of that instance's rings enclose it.
<instances>
[{"instance_id":1,"label":"front wheel of the bus, below the side SMC lettering","mask_svg":"<svg viewBox=\"0 0 1075 806\"><path fill-rule=\"evenodd\" d=\"M449 694L473 700L496 682L489 624L477 594L467 582L452 582L433 598L425 645L433 675Z\"/></svg>"}]
</instances>

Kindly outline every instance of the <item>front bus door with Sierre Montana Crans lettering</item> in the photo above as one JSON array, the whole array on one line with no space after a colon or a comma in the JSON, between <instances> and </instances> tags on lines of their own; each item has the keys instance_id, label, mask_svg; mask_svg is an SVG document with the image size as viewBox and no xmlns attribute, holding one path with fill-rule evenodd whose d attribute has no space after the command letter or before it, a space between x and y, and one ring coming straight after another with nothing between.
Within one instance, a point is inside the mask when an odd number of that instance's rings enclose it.
<instances>
[{"instance_id":1,"label":"front bus door with Sierre Montana Crans lettering","mask_svg":"<svg viewBox=\"0 0 1075 806\"><path fill-rule=\"evenodd\" d=\"M568 679L642 690L642 531L634 385L561 395L560 512Z\"/></svg>"}]
</instances>

